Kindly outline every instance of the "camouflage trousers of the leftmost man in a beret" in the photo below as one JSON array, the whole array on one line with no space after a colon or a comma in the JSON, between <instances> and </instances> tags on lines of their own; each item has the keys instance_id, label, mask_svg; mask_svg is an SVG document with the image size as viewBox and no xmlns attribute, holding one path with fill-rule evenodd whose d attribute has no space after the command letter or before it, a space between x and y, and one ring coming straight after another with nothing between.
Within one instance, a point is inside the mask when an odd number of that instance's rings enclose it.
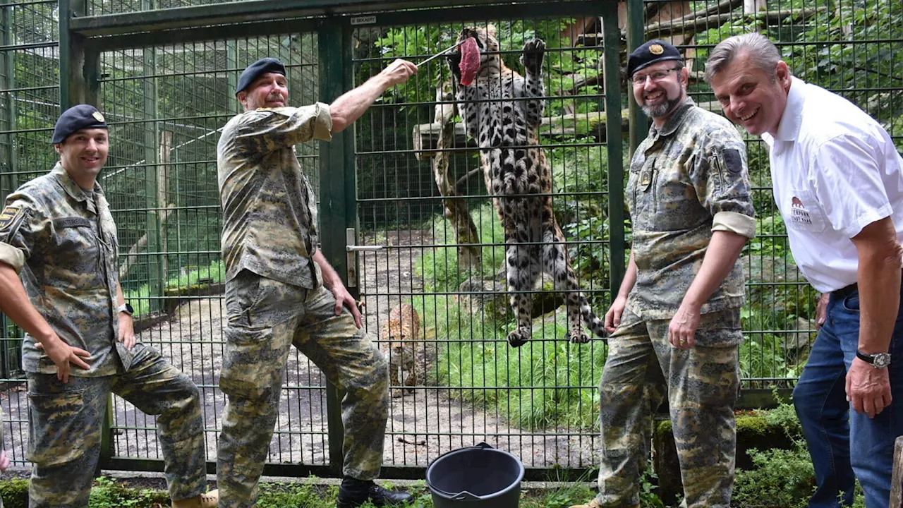
<instances>
[{"instance_id":1,"label":"camouflage trousers of the leftmost man in a beret","mask_svg":"<svg viewBox=\"0 0 903 508\"><path fill-rule=\"evenodd\" d=\"M113 376L71 376L63 383L56 374L26 372L29 437L25 457L34 463L28 491L31 508L88 506L111 391L157 417L172 499L207 491L198 387L153 349L139 343L133 353L131 368Z\"/></svg>"}]
</instances>

